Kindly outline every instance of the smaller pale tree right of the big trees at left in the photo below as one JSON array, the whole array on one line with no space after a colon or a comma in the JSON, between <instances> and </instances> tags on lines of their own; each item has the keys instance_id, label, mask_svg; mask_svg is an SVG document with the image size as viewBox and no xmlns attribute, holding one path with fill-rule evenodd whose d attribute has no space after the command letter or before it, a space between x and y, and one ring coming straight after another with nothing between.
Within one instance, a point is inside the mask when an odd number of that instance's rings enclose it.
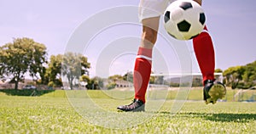
<instances>
[{"instance_id":1,"label":"smaller pale tree right of the big trees at left","mask_svg":"<svg viewBox=\"0 0 256 134\"><path fill-rule=\"evenodd\" d=\"M79 81L81 75L89 75L89 68L90 63L88 63L87 58L81 53L66 53L63 56L61 73L67 77L71 89L73 89L73 85L76 84L74 80Z\"/></svg>"}]
</instances>

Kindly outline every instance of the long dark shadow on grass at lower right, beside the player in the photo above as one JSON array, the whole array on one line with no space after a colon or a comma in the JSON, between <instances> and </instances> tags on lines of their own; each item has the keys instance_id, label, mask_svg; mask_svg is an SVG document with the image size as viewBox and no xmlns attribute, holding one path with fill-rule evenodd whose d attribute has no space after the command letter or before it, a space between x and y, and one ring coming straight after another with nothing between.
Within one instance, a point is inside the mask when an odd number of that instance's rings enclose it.
<instances>
[{"instance_id":1,"label":"long dark shadow on grass at lower right, beside the player","mask_svg":"<svg viewBox=\"0 0 256 134\"><path fill-rule=\"evenodd\" d=\"M165 116L166 114L171 114L170 112L160 112ZM175 114L177 118L201 118L204 120L220 121L220 122L237 122L246 123L252 120L256 120L256 114L233 114L233 113L177 113Z\"/></svg>"}]
</instances>

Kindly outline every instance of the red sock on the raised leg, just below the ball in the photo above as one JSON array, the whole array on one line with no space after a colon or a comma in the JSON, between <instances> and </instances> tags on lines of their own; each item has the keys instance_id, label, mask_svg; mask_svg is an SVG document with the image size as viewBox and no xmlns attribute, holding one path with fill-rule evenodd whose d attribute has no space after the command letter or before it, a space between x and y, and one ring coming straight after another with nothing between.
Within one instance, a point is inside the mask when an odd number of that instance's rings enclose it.
<instances>
[{"instance_id":1,"label":"red sock on the raised leg, just below the ball","mask_svg":"<svg viewBox=\"0 0 256 134\"><path fill-rule=\"evenodd\" d=\"M199 36L193 39L193 44L195 56L203 76L203 82L206 80L214 80L214 48L212 38L207 32L207 27L204 28L204 31L202 31Z\"/></svg>"}]
</instances>

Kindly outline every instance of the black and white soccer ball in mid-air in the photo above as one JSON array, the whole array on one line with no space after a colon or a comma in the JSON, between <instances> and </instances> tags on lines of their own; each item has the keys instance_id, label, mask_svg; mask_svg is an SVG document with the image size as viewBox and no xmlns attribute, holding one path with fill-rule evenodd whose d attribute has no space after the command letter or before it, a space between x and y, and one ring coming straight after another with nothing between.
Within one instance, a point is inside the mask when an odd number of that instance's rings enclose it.
<instances>
[{"instance_id":1,"label":"black and white soccer ball in mid-air","mask_svg":"<svg viewBox=\"0 0 256 134\"><path fill-rule=\"evenodd\" d=\"M164 22L170 36L189 40L201 33L206 16L200 4L192 0L177 0L166 8Z\"/></svg>"}]
</instances>

